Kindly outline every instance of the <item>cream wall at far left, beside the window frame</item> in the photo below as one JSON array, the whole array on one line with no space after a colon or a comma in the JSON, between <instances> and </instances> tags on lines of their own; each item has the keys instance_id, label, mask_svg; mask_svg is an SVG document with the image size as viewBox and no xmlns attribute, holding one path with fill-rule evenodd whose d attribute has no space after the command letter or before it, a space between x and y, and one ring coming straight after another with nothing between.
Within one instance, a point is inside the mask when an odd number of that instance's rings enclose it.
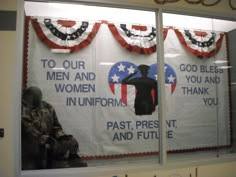
<instances>
[{"instance_id":1,"label":"cream wall at far left, beside the window frame","mask_svg":"<svg viewBox=\"0 0 236 177\"><path fill-rule=\"evenodd\" d=\"M0 1L0 11L15 10L16 0ZM5 134L0 138L0 177L14 177L12 80L16 61L16 32L0 30L0 39L0 128L4 129Z\"/></svg>"}]
</instances>

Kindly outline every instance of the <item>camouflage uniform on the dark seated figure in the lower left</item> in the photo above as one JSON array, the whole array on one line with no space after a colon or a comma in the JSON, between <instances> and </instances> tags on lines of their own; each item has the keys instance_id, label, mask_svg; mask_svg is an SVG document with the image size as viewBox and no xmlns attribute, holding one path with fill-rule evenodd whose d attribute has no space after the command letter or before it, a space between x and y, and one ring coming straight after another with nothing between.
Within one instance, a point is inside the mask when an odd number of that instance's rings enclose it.
<instances>
[{"instance_id":1,"label":"camouflage uniform on the dark seated figure in the lower left","mask_svg":"<svg viewBox=\"0 0 236 177\"><path fill-rule=\"evenodd\" d=\"M51 168L48 160L63 160L68 154L79 157L78 147L78 142L63 132L50 104L42 101L39 108L32 109L22 102L23 169Z\"/></svg>"}]
</instances>

